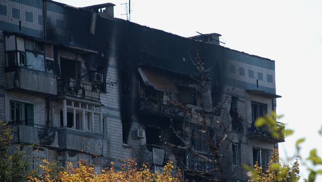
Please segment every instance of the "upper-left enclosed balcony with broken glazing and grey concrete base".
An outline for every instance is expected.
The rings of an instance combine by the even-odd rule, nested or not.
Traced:
[[[5,89],[57,94],[53,45],[16,33],[5,35]]]

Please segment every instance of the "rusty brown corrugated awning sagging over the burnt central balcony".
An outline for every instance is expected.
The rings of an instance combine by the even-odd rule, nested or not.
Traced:
[[[138,71],[145,85],[152,86],[157,91],[179,93],[175,84],[167,76],[142,68],[138,68]]]

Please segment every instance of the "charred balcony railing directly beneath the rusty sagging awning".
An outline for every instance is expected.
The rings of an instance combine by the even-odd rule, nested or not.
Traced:
[[[167,100],[150,97],[141,99],[140,111],[145,114],[156,115],[171,119],[183,120],[185,113],[178,106],[168,103]]]

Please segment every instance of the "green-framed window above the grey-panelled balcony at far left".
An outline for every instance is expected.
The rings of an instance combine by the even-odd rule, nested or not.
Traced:
[[[33,104],[10,101],[10,119],[20,124],[34,125],[34,106]]]

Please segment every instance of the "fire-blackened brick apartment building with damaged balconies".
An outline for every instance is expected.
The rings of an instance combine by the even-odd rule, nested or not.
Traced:
[[[172,123],[195,151],[214,159],[202,126],[174,103],[189,112],[205,107],[215,140],[222,128],[211,123],[226,124],[231,142],[218,150],[225,175],[236,174],[230,181],[247,181],[242,164],[265,168],[284,141],[254,126],[280,97],[274,61],[221,46],[219,34],[184,38],[114,18],[113,6],[0,0],[0,120],[10,122],[16,149],[31,152],[30,169],[46,158],[61,166],[85,160],[99,172],[130,156],[154,171],[171,159],[220,179],[213,163],[164,144],[183,146]],[[207,72],[203,103],[192,79],[200,73],[196,57]]]

